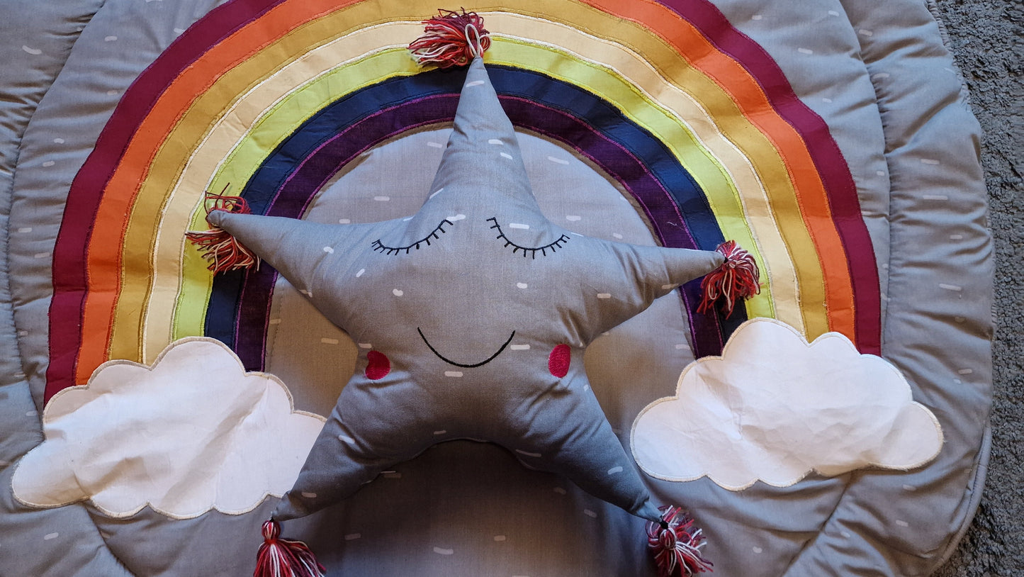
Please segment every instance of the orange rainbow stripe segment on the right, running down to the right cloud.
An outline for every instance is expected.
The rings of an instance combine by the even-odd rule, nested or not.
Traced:
[[[803,138],[790,123],[775,114],[757,80],[739,63],[719,51],[688,20],[660,4],[650,0],[582,1],[656,33],[691,66],[702,71],[729,93],[743,116],[775,145],[796,187],[804,224],[818,250],[818,261],[824,275],[823,304],[828,312],[829,329],[855,339],[853,282],[846,250],[831,220],[824,187]],[[784,228],[785,222],[779,221],[779,226]],[[802,306],[815,304],[805,302]],[[815,336],[808,335],[809,338]]]

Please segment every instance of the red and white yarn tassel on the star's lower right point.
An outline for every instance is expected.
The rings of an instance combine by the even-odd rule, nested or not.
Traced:
[[[654,553],[658,577],[712,571],[713,564],[700,555],[705,537],[700,529],[693,527],[693,519],[676,506],[665,505],[658,510],[662,521],[647,522],[647,547]]]

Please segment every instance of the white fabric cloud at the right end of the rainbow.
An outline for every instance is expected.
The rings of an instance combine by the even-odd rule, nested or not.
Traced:
[[[786,487],[812,470],[911,469],[938,455],[942,429],[881,357],[839,333],[808,344],[783,323],[753,319],[722,357],[683,370],[676,397],[640,412],[632,447],[652,477],[707,476],[738,491],[759,480]]]

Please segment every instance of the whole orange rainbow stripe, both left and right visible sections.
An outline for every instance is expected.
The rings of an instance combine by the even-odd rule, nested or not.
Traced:
[[[91,368],[106,360],[114,308],[121,290],[120,275],[148,274],[147,271],[121,271],[122,243],[136,195],[147,175],[150,164],[181,115],[193,106],[198,94],[209,89],[219,75],[241,64],[253,52],[265,48],[304,23],[357,1],[291,0],[282,3],[212,47],[161,95],[121,159],[104,190],[95,218],[87,270],[118,274],[90,278],[91,288],[85,302],[82,327],[84,340],[78,363],[77,382],[85,382]],[[829,313],[830,327],[853,338],[853,292],[846,266],[846,254],[830,218],[824,189],[814,170],[813,161],[804,150],[800,134],[774,113],[760,85],[738,63],[719,52],[689,22],[675,12],[645,1],[630,2],[628,5],[617,5],[614,0],[584,1],[604,12],[635,20],[656,32],[679,54],[686,57],[691,66],[707,74],[730,94],[743,116],[776,146],[797,187],[797,202],[806,230],[818,250],[818,260],[824,273],[826,296],[823,304]],[[783,226],[785,224],[780,223],[780,228]],[[802,306],[816,304],[804,302]],[[137,317],[138,313],[135,315]],[[131,322],[137,323],[136,317],[132,317]]]

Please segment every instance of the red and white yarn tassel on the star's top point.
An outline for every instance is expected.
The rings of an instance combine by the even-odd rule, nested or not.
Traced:
[[[409,45],[420,66],[466,66],[490,47],[490,33],[483,28],[483,18],[465,8],[462,13],[437,10],[436,16],[423,24],[426,32]]]

